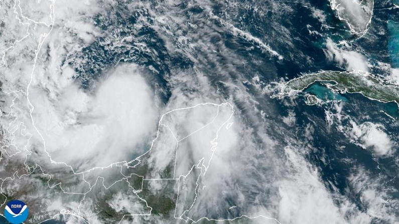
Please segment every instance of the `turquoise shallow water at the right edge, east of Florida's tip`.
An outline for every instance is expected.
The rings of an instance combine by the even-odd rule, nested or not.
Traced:
[[[399,4],[399,0],[397,0]],[[388,21],[389,30],[388,52],[392,62],[392,67],[399,68],[399,23]]]

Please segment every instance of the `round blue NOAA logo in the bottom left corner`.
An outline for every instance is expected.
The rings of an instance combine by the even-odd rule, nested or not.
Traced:
[[[4,209],[4,216],[13,224],[20,224],[28,218],[28,206],[20,200],[12,200]]]

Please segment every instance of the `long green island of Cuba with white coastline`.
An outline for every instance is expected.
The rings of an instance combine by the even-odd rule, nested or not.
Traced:
[[[399,105],[399,89],[395,85],[384,84],[370,74],[359,72],[323,71],[304,75],[289,81],[278,95],[290,95],[291,91],[302,91],[315,82],[324,83],[328,88],[344,93],[360,93],[370,99],[382,102],[394,101]]]

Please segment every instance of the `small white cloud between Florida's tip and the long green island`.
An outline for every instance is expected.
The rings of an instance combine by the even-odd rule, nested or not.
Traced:
[[[327,39],[324,54],[329,61],[335,61],[339,66],[343,66],[347,70],[369,71],[367,60],[362,54],[355,51],[342,50],[331,39]]]

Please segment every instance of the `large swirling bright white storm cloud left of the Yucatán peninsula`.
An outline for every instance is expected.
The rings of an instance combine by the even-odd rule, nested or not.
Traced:
[[[156,130],[157,111],[135,66],[117,67],[93,92],[69,79],[59,80],[63,89],[52,99],[41,88],[32,90],[33,117],[54,161],[88,169],[143,151],[141,144]]]

